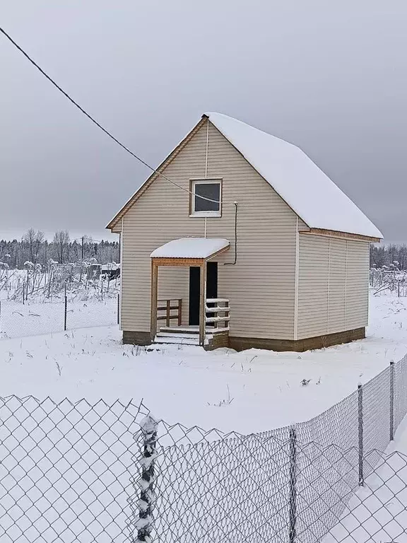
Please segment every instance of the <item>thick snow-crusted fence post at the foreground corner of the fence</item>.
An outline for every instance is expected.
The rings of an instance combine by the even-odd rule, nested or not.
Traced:
[[[140,426],[141,435],[143,436],[143,452],[141,455],[141,494],[138,501],[136,542],[151,543],[154,505],[154,463],[157,457],[158,421],[152,415],[148,415],[141,421]]]

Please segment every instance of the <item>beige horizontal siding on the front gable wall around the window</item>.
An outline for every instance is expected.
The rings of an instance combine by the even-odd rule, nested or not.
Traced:
[[[204,177],[206,125],[165,169],[185,189],[190,177]],[[230,298],[230,334],[293,339],[297,217],[236,149],[209,124],[208,177],[223,178],[222,217],[208,218],[209,238],[228,238],[218,258],[218,296]],[[235,206],[238,202],[237,264]],[[204,218],[188,216],[189,194],[158,177],[124,215],[122,329],[150,329],[150,254],[175,238],[204,236]],[[306,228],[299,221],[300,228]],[[160,268],[160,298],[183,299],[188,322],[188,269]]]

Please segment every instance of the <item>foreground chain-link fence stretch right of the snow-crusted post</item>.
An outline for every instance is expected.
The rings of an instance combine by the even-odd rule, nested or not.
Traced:
[[[314,419],[251,436],[161,423],[152,540],[322,542],[406,415],[406,375],[403,358]]]

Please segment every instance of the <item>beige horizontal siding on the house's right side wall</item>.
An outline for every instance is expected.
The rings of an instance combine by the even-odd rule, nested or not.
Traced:
[[[365,327],[369,243],[300,234],[298,339]]]

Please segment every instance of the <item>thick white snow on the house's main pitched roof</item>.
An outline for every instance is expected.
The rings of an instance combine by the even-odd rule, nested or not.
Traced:
[[[221,113],[205,114],[309,228],[383,238],[299,147]]]

